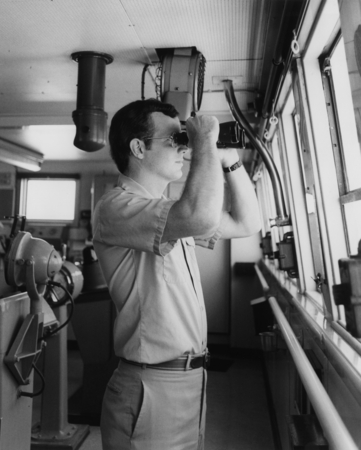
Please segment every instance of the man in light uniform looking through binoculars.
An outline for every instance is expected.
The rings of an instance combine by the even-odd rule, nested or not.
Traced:
[[[219,150],[216,118],[186,122],[190,171],[178,201],[167,185],[182,176],[188,148],[173,106],[145,100],[119,110],[109,142],[118,186],[94,214],[94,247],[117,308],[120,364],[105,393],[103,450],[203,448],[207,325],[194,239],[260,229],[253,186],[235,149]],[[222,171],[223,167],[223,171]],[[222,212],[224,177],[231,212]]]

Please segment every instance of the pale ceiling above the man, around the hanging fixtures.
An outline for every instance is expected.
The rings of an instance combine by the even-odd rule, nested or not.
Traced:
[[[291,0],[292,1],[292,0]],[[206,58],[201,113],[231,120],[221,80],[240,108],[266,90],[286,0],[1,0],[0,137],[46,160],[104,160],[73,145],[78,51],[108,53],[108,123],[125,104],[155,97],[156,49],[195,46]],[[1,152],[1,146],[0,146]]]

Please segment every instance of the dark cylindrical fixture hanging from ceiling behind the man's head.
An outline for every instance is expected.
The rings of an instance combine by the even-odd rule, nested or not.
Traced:
[[[79,63],[78,94],[73,121],[75,147],[95,152],[107,142],[108,114],[104,111],[105,66],[113,62],[106,53],[77,52],[71,55]]]

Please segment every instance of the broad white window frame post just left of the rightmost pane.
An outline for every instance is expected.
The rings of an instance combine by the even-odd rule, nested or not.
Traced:
[[[307,94],[309,129],[314,169],[317,177],[317,205],[320,211],[320,233],[324,249],[324,264],[328,280],[330,318],[343,322],[332,286],[340,283],[338,261],[347,255],[345,228],[342,219],[336,167],[325,102],[319,58],[340,27],[339,5],[336,0],[323,5],[319,20],[312,30],[307,48],[302,54],[304,88]],[[317,124],[317,126],[316,126]],[[342,308],[341,308],[342,309]]]

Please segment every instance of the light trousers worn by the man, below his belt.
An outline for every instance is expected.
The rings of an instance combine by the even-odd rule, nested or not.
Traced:
[[[120,362],[103,400],[103,450],[203,450],[207,373]]]

